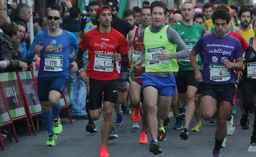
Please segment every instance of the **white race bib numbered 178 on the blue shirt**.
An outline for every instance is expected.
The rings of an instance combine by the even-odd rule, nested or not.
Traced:
[[[44,71],[62,71],[62,55],[44,55]]]

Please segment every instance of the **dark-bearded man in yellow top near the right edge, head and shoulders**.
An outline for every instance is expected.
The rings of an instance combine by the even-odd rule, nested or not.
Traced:
[[[240,9],[238,13],[238,18],[241,21],[241,34],[245,39],[254,37],[254,30],[251,28],[251,17],[252,11],[251,9],[244,7]]]

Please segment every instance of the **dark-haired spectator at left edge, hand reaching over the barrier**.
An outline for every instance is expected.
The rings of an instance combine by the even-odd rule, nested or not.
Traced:
[[[20,70],[21,68],[27,68],[27,63],[21,62],[20,60],[14,60],[13,54],[14,51],[14,41],[17,38],[18,25],[14,22],[7,22],[2,26],[5,34],[2,39],[2,58],[1,60],[9,60],[9,71]],[[7,70],[6,70],[7,71]]]

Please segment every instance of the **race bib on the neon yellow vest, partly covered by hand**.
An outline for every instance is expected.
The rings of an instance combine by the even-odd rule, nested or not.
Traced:
[[[148,49],[149,65],[160,65],[168,62],[168,60],[160,60],[160,58],[158,58],[158,53],[160,53],[160,50],[165,51],[165,46]]]

